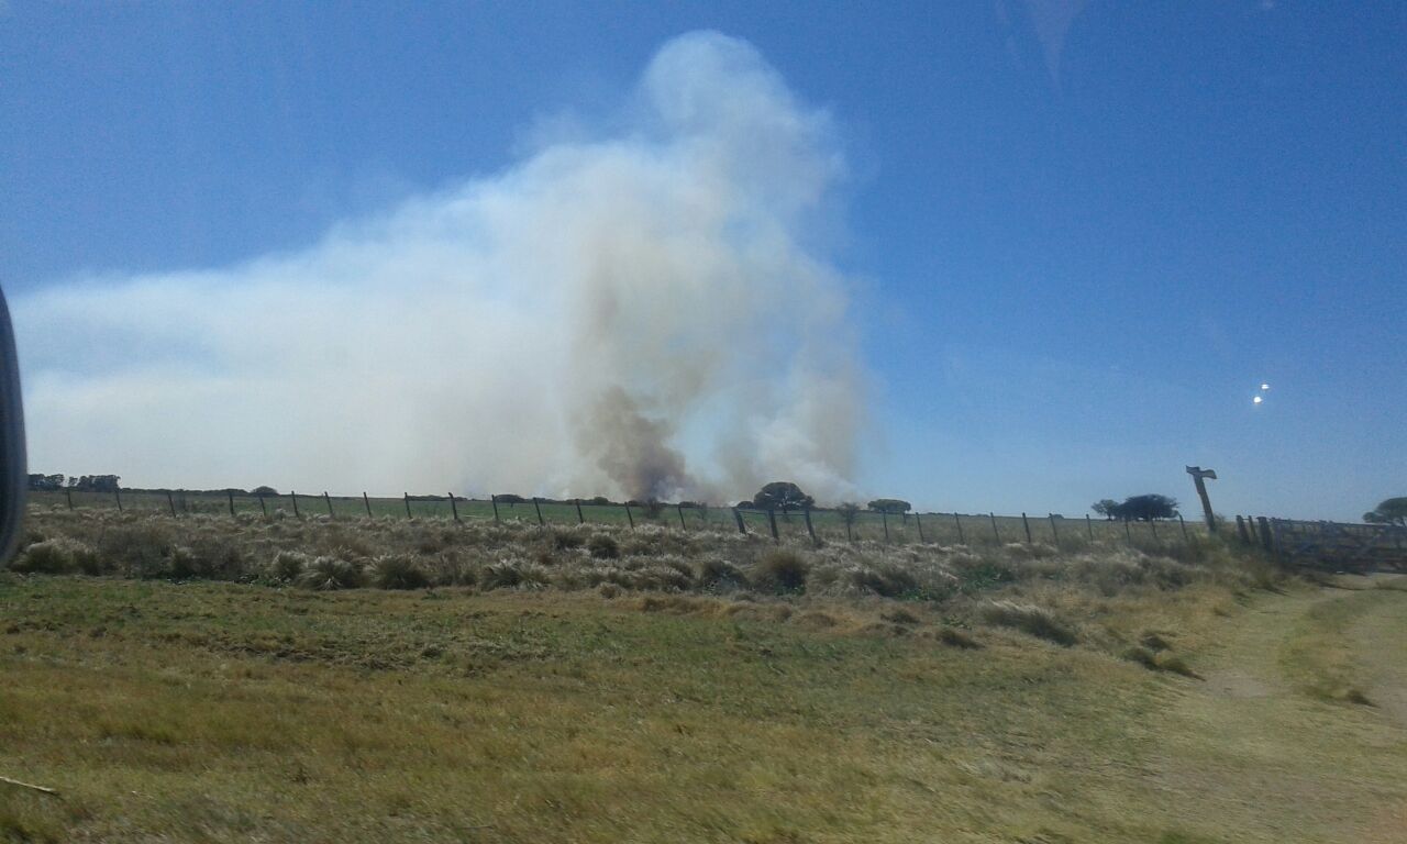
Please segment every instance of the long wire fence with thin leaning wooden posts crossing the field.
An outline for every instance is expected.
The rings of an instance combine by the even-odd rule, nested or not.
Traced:
[[[1078,549],[1090,543],[1124,543],[1134,547],[1165,549],[1188,544],[1207,535],[1206,523],[1175,519],[1121,522],[1090,516],[1065,518],[877,511],[765,511],[709,506],[704,504],[619,504],[602,499],[547,499],[518,495],[464,498],[459,495],[411,495],[398,498],[287,492],[191,492],[166,490],[114,490],[94,492],[65,488],[32,491],[31,505],[51,509],[108,509],[187,515],[227,515],[262,519],[442,519],[449,522],[499,522],[547,526],[613,525],[657,526],[685,532],[740,532],[784,540],[884,542],[889,544],[1000,546],[1009,543],[1048,544]],[[1238,516],[1240,519],[1240,516]]]

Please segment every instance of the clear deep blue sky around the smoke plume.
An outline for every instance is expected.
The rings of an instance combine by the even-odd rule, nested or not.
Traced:
[[[870,373],[858,494],[1074,515],[1190,502],[1188,463],[1218,470],[1225,512],[1355,518],[1407,494],[1393,3],[17,1],[6,291],[23,315],[76,277],[295,255],[609,128],[696,30],[756,48],[843,155],[805,238],[846,279]],[[58,366],[25,353],[27,377]],[[35,468],[162,482],[120,437],[104,467],[39,445]]]

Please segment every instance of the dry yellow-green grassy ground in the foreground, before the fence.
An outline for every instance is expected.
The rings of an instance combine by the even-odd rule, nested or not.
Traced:
[[[257,547],[250,565],[279,542],[370,542],[346,525],[229,522],[41,513],[31,539],[121,554],[132,530],[155,547],[158,529],[225,525]],[[1407,829],[1401,580],[1327,588],[1214,546],[1176,560],[860,543],[782,549],[803,582],[768,589],[771,543],[646,532],[656,544],[623,553],[622,571],[726,556],[749,585],[577,588],[563,573],[582,551],[550,530],[363,529],[387,549],[453,530],[466,560],[497,540],[490,557],[552,549],[533,563],[549,577],[317,591],[115,563],[0,573],[0,775],[61,791],[0,785],[0,840],[1186,844]],[[957,588],[864,585],[898,564]]]

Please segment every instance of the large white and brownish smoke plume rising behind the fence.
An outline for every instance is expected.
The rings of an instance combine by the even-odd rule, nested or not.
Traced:
[[[813,246],[843,174],[827,115],[709,32],[664,45],[622,113],[301,252],[20,298],[32,466],[310,492],[850,492],[862,377],[844,279]]]

